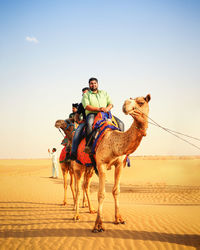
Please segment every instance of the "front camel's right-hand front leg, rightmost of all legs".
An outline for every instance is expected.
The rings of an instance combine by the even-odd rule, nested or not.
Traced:
[[[120,194],[120,177],[123,165],[118,165],[115,167],[115,183],[112,190],[112,194],[115,200],[115,221],[114,224],[125,224],[125,221],[122,219],[122,216],[119,213],[119,200],[118,196]]]

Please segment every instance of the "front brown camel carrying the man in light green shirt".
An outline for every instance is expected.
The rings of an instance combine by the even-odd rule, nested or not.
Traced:
[[[148,127],[149,105],[151,96],[138,97],[135,99],[128,99],[124,102],[123,112],[129,114],[134,118],[133,124],[126,132],[120,132],[117,130],[106,131],[102,141],[100,142],[96,150],[96,165],[99,172],[99,191],[98,191],[98,211],[97,218],[93,232],[104,231],[102,222],[102,208],[105,198],[105,179],[106,170],[111,169],[111,166],[115,166],[115,182],[112,190],[112,194],[115,201],[115,224],[124,224],[122,216],[119,212],[118,195],[120,193],[120,177],[123,167],[126,164],[126,156],[133,153],[139,146],[143,136],[146,136],[146,129]],[[78,202],[79,202],[79,189],[80,178],[83,175],[84,166],[75,163],[73,166],[77,193],[76,193],[76,213],[74,219],[79,219]],[[87,196],[89,193],[87,194]],[[90,200],[90,199],[88,199]],[[88,201],[89,202],[89,201]],[[88,204],[90,206],[90,204]]]

